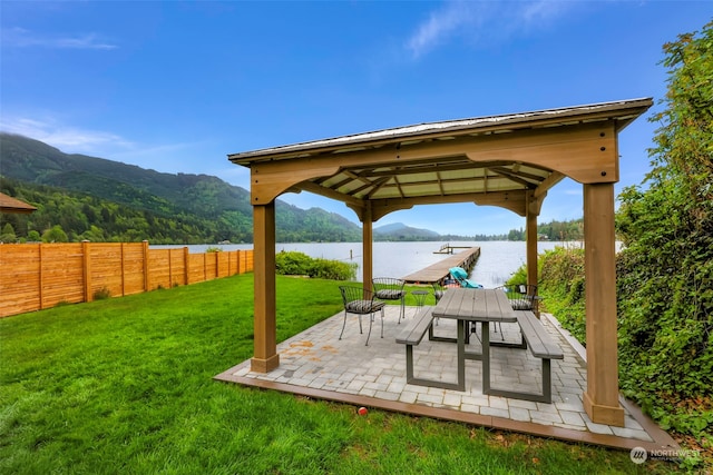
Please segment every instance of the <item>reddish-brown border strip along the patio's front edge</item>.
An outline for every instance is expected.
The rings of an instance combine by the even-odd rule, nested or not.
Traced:
[[[369,396],[336,393],[324,389],[295,386],[286,383],[268,382],[244,376],[236,376],[235,373],[242,367],[244,367],[244,365],[238,365],[231,369],[227,369],[226,372],[223,372],[219,375],[215,376],[214,379],[225,383],[236,383],[243,386],[254,387],[258,389],[291,393],[297,396],[312,397],[315,399],[350,404],[354,406],[365,406],[412,416],[431,417],[442,420],[466,423],[492,429],[517,432],[521,434],[529,434],[538,437],[559,439],[564,442],[599,445],[623,451],[631,451],[634,447],[641,447],[648,452],[678,448],[678,445],[675,443],[675,441],[673,441],[673,438],[671,438],[668,434],[663,433],[663,431],[658,426],[653,424],[653,427],[642,424],[644,431],[646,431],[646,433],[654,439],[654,442],[646,442],[618,437],[616,435],[593,434],[584,431],[574,431],[528,422],[518,422],[504,417],[492,417],[484,416],[480,414],[463,413],[460,410],[442,407],[429,407],[419,404],[379,399]],[[654,434],[652,434],[649,429],[654,429]],[[662,434],[660,433],[665,434],[666,437],[662,437]]]

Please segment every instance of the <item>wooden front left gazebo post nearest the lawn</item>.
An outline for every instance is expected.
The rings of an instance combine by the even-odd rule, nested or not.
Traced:
[[[251,370],[270,373],[280,366],[275,304],[275,201],[253,206],[254,356]]]

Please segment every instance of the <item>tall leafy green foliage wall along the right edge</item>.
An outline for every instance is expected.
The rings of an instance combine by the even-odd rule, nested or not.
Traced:
[[[622,389],[665,428],[713,434],[713,22],[666,43],[645,190],[621,195]]]

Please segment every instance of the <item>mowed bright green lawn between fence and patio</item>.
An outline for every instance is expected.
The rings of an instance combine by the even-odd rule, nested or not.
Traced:
[[[341,309],[277,277],[283,340]],[[336,338],[336,335],[334,336]],[[253,276],[0,320],[2,474],[670,473],[626,452],[212,379],[253,352]]]

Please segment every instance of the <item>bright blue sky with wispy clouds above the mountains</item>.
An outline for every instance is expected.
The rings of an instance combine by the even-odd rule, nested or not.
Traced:
[[[439,120],[665,93],[662,46],[701,29],[709,1],[0,2],[0,129],[157,171],[246,189],[228,154]],[[641,184],[656,125],[619,136]],[[0,164],[1,167],[1,164]],[[356,221],[311,194],[281,199]],[[582,186],[540,221],[582,217]],[[500,208],[422,206],[441,234],[524,226]]]

